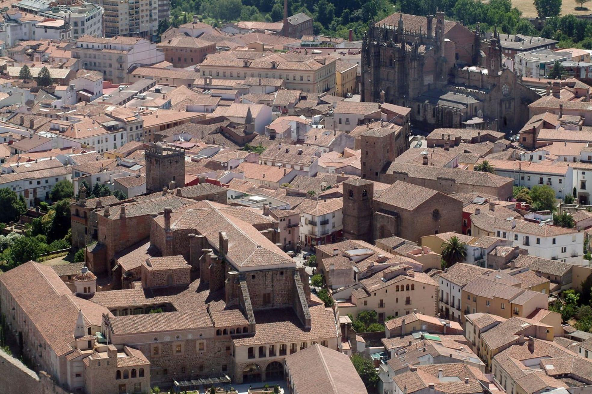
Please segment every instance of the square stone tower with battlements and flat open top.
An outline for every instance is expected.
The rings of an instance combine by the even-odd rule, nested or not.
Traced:
[[[152,144],[146,149],[146,192],[160,192],[175,182],[185,186],[185,151],[165,147],[162,143]]]

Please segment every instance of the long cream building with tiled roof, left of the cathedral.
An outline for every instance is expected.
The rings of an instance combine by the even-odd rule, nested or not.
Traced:
[[[221,79],[284,79],[287,89],[334,94],[335,60],[298,53],[226,51],[208,55],[200,63],[201,76]]]

